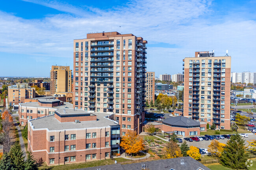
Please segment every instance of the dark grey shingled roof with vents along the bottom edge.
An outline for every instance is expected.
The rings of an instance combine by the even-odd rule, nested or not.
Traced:
[[[184,160],[184,164],[181,164],[182,159]],[[82,168],[80,170],[141,170],[141,165],[145,165],[145,169],[148,170],[197,170],[198,168],[201,168],[202,170],[210,170],[192,157],[178,157],[173,159],[162,159],[157,161],[148,161],[125,165],[113,164],[95,166],[90,168]]]

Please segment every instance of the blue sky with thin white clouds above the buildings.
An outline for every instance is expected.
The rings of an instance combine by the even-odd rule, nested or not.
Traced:
[[[147,70],[182,73],[195,51],[228,49],[234,72],[256,72],[255,0],[6,0],[0,2],[0,76],[49,77],[73,66],[73,39],[132,33],[148,41]],[[120,27],[121,26],[121,27]]]

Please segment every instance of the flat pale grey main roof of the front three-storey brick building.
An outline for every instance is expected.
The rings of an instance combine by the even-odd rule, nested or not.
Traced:
[[[67,129],[83,129],[83,128],[100,128],[106,126],[118,125],[118,122],[108,119],[111,114],[108,113],[93,113],[97,116],[96,121],[75,122],[59,122],[54,115],[44,116],[29,120],[34,129],[48,130],[67,130]]]

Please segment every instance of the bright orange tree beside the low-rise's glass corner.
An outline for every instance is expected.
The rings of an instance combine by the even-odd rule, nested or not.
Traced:
[[[144,149],[144,140],[142,137],[138,137],[137,132],[133,130],[128,130],[125,136],[122,137],[120,146],[124,148],[126,154],[135,155],[139,151]]]

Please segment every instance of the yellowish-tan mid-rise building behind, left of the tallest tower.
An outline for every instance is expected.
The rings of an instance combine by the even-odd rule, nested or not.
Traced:
[[[72,70],[69,66],[52,66],[50,71],[51,84],[50,91],[51,94],[56,92],[71,92],[72,91]]]

